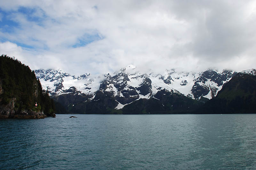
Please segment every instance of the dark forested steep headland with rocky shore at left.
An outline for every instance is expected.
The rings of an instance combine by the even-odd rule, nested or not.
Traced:
[[[43,91],[34,71],[17,59],[1,55],[0,118],[44,118],[54,115],[53,100]]]

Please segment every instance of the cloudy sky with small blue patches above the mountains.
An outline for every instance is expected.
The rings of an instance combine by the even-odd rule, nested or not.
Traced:
[[[32,70],[256,68],[254,0],[2,0],[0,53]]]

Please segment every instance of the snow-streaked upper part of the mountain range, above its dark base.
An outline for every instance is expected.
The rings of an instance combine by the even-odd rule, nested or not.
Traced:
[[[63,95],[80,95],[79,102],[99,101],[107,98],[112,101],[111,107],[121,109],[140,99],[156,99],[160,91],[170,94],[185,95],[192,99],[209,100],[216,96],[222,85],[228,82],[236,72],[223,70],[206,70],[201,73],[176,72],[166,70],[164,74],[152,71],[140,72],[136,66],[128,65],[114,73],[105,74],[103,78],[84,74],[71,76],[60,69],[35,70],[43,89],[60,100]],[[163,93],[164,95],[164,93]],[[83,96],[83,98],[81,98]],[[68,98],[68,97],[66,97]],[[62,99],[63,100],[63,99]],[[84,101],[83,101],[84,100]],[[74,100],[62,101],[66,105],[76,105]],[[104,101],[106,105],[109,101]]]

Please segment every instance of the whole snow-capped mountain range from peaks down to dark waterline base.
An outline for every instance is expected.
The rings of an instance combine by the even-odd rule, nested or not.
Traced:
[[[60,69],[35,70],[60,113],[189,113],[214,98],[237,73],[232,70],[157,74],[128,65],[114,73],[71,76]],[[58,110],[58,109],[57,109]]]

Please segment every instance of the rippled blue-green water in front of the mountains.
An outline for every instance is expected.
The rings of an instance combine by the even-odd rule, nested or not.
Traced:
[[[256,169],[256,115],[69,116],[0,120],[0,169]]]

